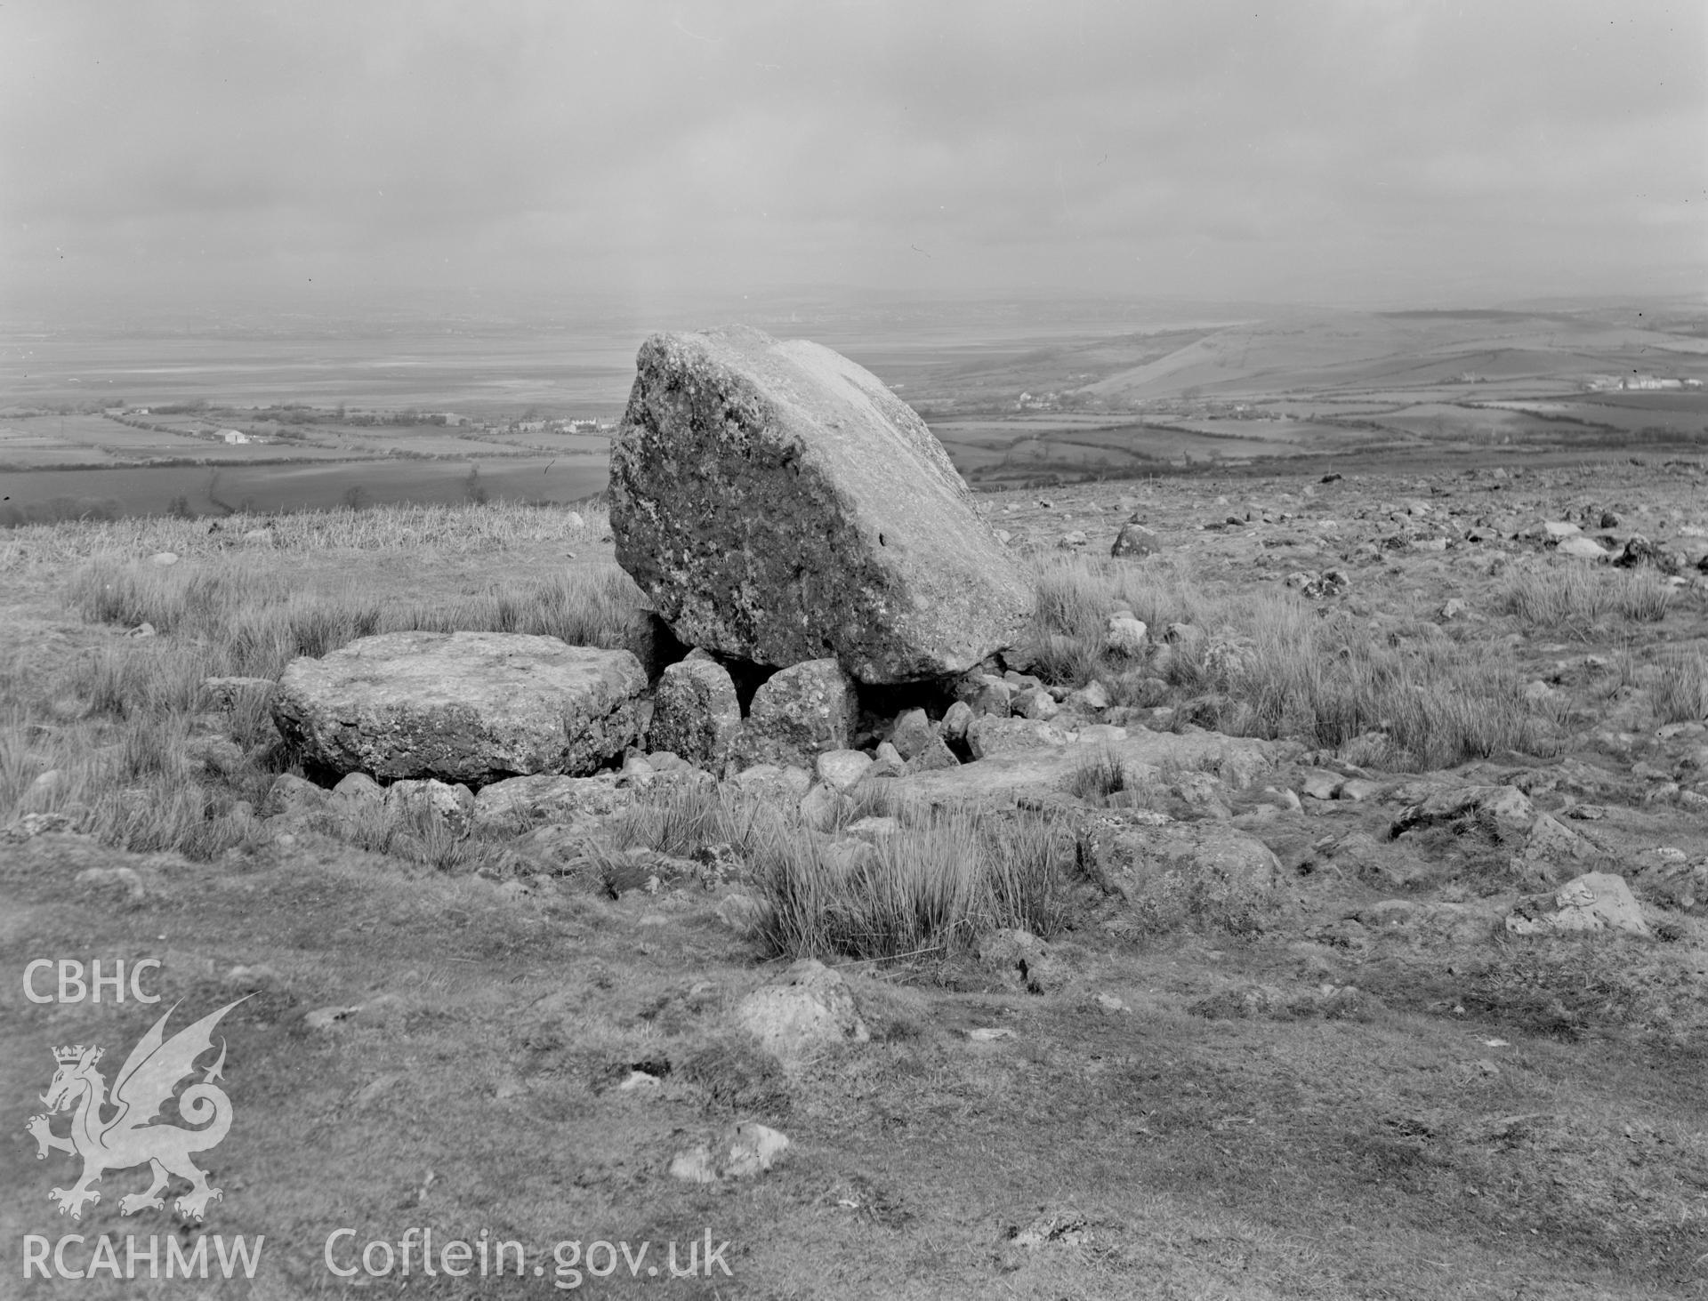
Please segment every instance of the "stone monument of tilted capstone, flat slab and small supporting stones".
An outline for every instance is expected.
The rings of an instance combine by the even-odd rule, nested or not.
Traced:
[[[912,408],[828,348],[746,326],[654,335],[635,372],[611,534],[688,654],[647,681],[629,650],[552,637],[364,637],[297,659],[273,693],[311,772],[429,784],[393,802],[473,801],[454,814],[471,826],[564,813],[584,802],[565,779],[620,763],[801,797],[1032,750],[1027,780],[1066,780],[1064,748],[1107,702],[1023,673],[1028,584]],[[1144,637],[1110,623],[1134,654]]]

